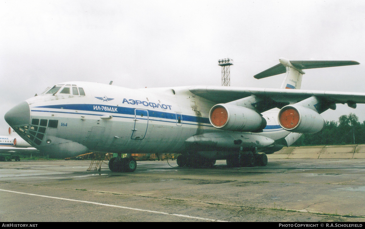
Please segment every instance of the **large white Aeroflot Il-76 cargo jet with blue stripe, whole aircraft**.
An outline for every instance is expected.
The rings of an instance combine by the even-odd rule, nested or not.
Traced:
[[[226,60],[227,61],[227,60]],[[228,60],[231,61],[231,60]],[[32,146],[55,157],[118,153],[112,171],[134,171],[127,153],[181,153],[181,167],[266,165],[266,154],[324,126],[321,113],[337,103],[356,108],[365,93],[300,89],[303,69],[356,61],[290,61],[254,77],[285,73],[281,88],[189,86],[129,89],[65,82],[19,103],[5,120]],[[284,142],[284,144],[282,143]]]

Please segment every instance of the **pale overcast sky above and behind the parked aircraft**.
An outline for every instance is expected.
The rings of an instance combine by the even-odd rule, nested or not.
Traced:
[[[279,88],[284,74],[253,76],[290,60],[355,60],[305,70],[302,89],[365,92],[365,1],[8,1],[0,3],[0,135],[4,114],[64,81],[129,88],[221,85]],[[326,120],[365,105],[337,105]]]

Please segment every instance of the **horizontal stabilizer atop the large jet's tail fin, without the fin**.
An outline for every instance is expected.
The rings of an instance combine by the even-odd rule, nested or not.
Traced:
[[[337,66],[347,66],[347,65],[358,65],[359,62],[356,61],[322,61],[322,60],[287,60],[284,58],[280,59],[280,64],[277,64],[263,72],[258,73],[254,77],[256,79],[262,79],[269,76],[279,75],[286,72],[286,66],[293,67],[296,69],[311,69],[311,68],[329,68]]]

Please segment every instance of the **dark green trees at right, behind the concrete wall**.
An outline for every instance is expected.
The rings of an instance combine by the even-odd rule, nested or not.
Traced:
[[[350,113],[338,121],[326,121],[323,129],[315,134],[303,134],[293,146],[365,144],[365,121]]]

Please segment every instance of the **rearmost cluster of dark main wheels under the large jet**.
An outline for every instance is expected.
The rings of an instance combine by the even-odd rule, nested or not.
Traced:
[[[265,153],[239,153],[232,154],[226,159],[228,167],[254,167],[268,164],[268,156]]]

